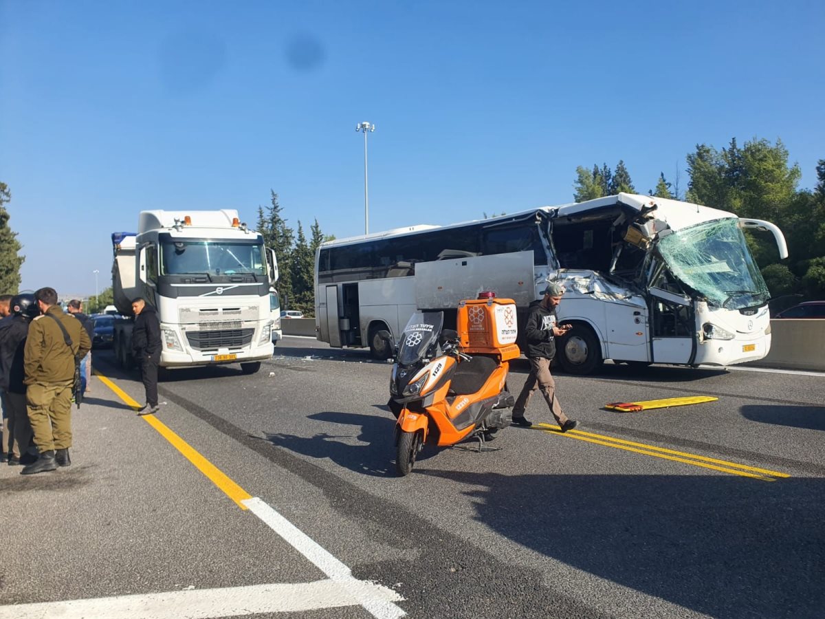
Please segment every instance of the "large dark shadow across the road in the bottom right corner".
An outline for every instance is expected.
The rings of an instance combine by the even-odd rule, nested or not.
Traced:
[[[825,480],[413,475],[470,486],[476,519],[522,546],[696,612],[822,617]]]

